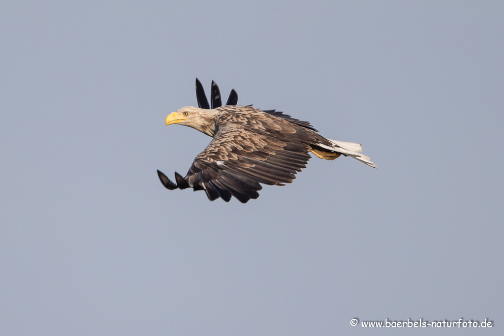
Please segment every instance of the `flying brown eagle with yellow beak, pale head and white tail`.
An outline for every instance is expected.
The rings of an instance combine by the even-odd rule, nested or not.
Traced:
[[[172,182],[157,171],[168,189],[205,190],[210,200],[228,202],[234,196],[241,203],[258,198],[262,184],[285,185],[306,167],[309,153],[325,160],[349,156],[376,168],[361,154],[362,145],[324,138],[307,121],[276,110],[260,110],[252,105],[238,106],[238,95],[231,91],[222,106],[220,91],[212,81],[211,106],[200,81],[196,79],[198,106],[185,106],[169,114],[166,126],[179,124],[212,137],[182,177],[175,172]]]

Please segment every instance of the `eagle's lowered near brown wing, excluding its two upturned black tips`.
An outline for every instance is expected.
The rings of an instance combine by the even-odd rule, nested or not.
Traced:
[[[184,177],[188,186],[205,190],[211,200],[235,196],[246,203],[259,197],[259,183],[291,183],[306,167],[313,139],[288,122],[270,120],[256,116],[246,126],[221,126]]]

